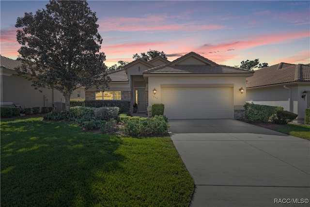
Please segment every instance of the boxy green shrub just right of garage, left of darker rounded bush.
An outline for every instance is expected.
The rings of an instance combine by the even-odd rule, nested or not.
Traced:
[[[244,108],[245,119],[250,123],[272,122],[276,118],[276,112],[279,110],[283,111],[283,107],[279,106],[266,106],[250,103],[246,103]]]

